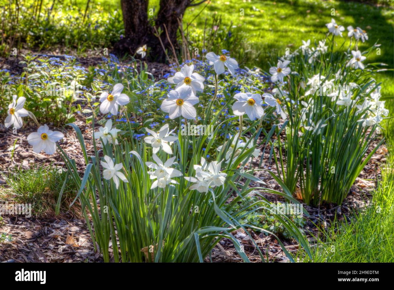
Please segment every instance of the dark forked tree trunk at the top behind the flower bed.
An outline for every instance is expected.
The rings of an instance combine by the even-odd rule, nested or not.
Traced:
[[[147,45],[150,49],[149,60],[165,62],[165,53],[160,40],[148,21],[148,2],[149,0],[121,0],[125,37],[115,44],[113,52],[116,54],[134,54],[138,47]],[[158,31],[162,32],[160,39],[168,52],[172,51],[171,43],[175,49],[178,48],[178,19],[183,17],[187,7],[196,6],[203,2],[160,0],[160,9],[154,25]],[[167,28],[168,37],[165,28]]]

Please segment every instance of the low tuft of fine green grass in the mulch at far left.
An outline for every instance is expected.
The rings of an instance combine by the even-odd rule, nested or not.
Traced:
[[[54,217],[56,201],[65,181],[66,173],[56,167],[32,167],[17,169],[6,177],[8,189],[0,192],[2,200],[12,199],[15,204],[32,204],[32,215],[35,217]],[[60,212],[70,210],[71,214],[78,215],[80,206],[69,204],[78,189],[69,180],[63,191]]]

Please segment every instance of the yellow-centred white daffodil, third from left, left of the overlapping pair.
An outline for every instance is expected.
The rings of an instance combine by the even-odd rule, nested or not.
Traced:
[[[115,84],[111,94],[103,92],[100,95],[100,112],[107,114],[110,112],[113,115],[118,114],[119,105],[124,106],[130,102],[130,98],[126,94],[121,94],[123,91],[123,84]]]

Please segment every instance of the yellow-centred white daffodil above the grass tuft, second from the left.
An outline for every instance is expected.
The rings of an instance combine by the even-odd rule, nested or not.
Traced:
[[[27,137],[27,142],[33,145],[33,151],[35,153],[40,153],[44,150],[46,154],[52,155],[56,151],[56,142],[63,137],[63,133],[49,130],[45,124],[40,126],[37,132],[30,133]]]

